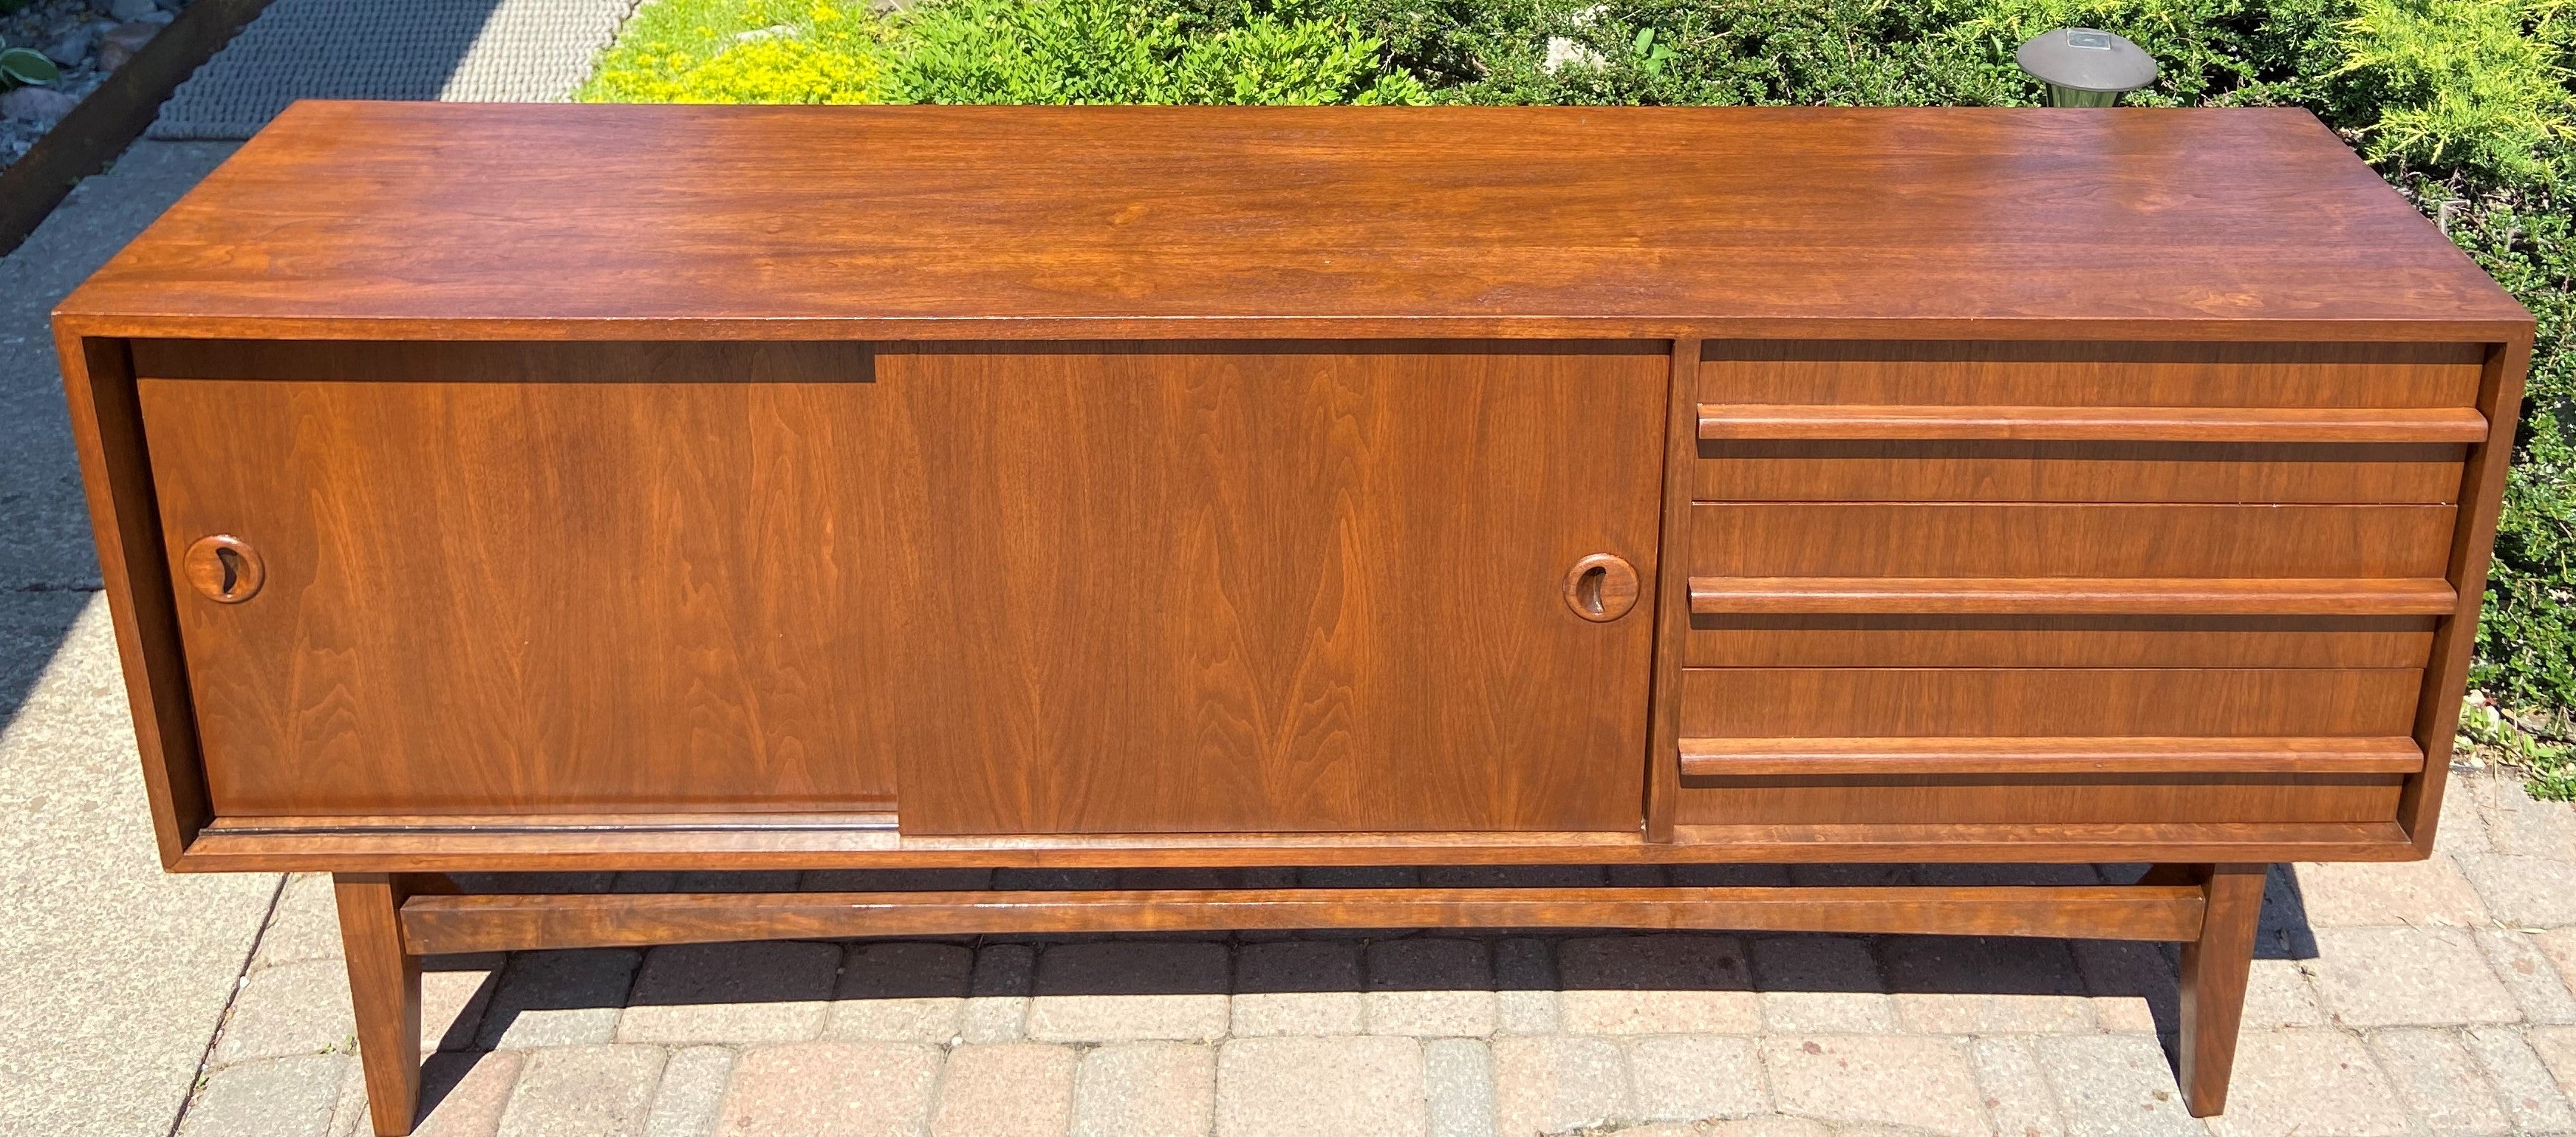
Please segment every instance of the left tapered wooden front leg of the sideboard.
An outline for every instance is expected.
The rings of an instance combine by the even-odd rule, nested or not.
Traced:
[[[420,957],[402,951],[402,877],[337,874],[340,944],[358,1008],[358,1062],[379,1137],[412,1132],[420,1109]]]

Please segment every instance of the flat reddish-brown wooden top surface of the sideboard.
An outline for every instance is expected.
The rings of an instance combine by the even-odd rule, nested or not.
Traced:
[[[201,338],[2530,335],[2285,108],[299,103],[59,317]]]

